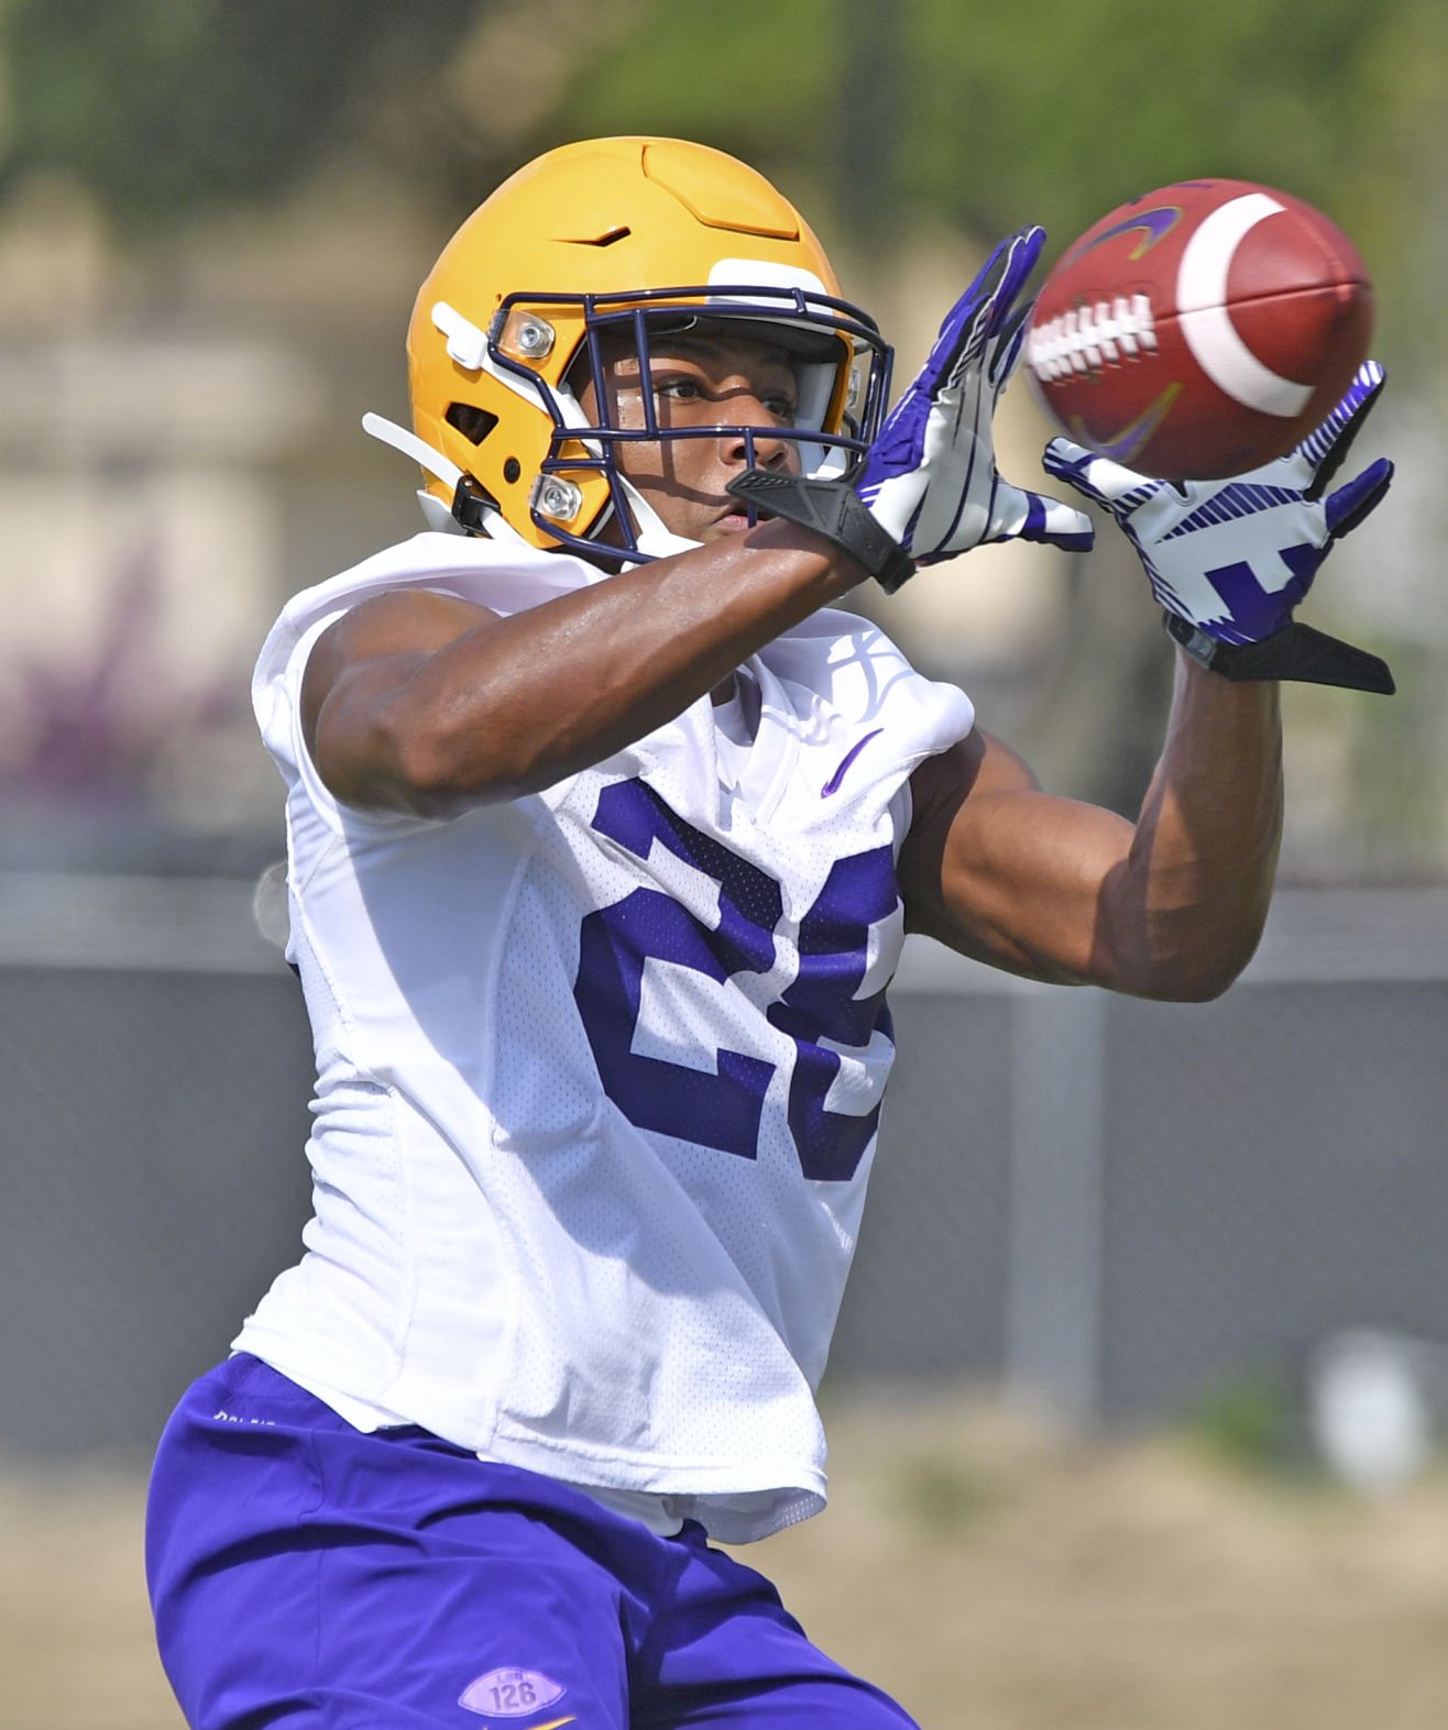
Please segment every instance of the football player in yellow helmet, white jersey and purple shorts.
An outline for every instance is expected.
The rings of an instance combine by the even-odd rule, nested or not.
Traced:
[[[1138,820],[1043,792],[837,609],[984,541],[1090,543],[993,458],[1040,244],[1002,244],[889,413],[799,213],[695,144],[543,156],[422,285],[413,429],[368,424],[429,528],[291,600],[256,670],[315,1216],[157,1453],[197,1730],[910,1721],[716,1547],[825,1502],[903,934],[1223,991],[1282,818],[1277,683],[1227,650],[1292,630],[1387,483],[1318,502],[1379,375],[1232,521],[1054,446],[1190,640]],[[1278,541],[1266,625],[1201,600],[1195,566]]]

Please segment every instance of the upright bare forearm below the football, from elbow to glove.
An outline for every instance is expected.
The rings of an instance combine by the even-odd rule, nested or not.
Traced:
[[[1230,683],[1178,656],[1166,746],[1104,901],[1121,986],[1218,996],[1253,958],[1282,839],[1275,683]]]

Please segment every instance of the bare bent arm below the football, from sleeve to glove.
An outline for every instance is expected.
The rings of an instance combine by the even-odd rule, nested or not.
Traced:
[[[1251,958],[1282,832],[1277,685],[1180,657],[1166,747],[1135,823],[1041,792],[972,734],[912,777],[908,924],[1033,979],[1220,995]]]

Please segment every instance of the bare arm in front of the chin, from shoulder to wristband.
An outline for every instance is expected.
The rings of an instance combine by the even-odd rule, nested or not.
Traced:
[[[536,792],[673,720],[863,576],[811,531],[761,522],[512,618],[384,593],[311,650],[306,744],[362,810],[446,817]]]

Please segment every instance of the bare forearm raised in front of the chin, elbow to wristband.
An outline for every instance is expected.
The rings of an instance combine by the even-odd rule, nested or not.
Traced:
[[[673,720],[862,576],[765,522],[469,633],[389,706],[405,799],[436,815],[538,792]]]

